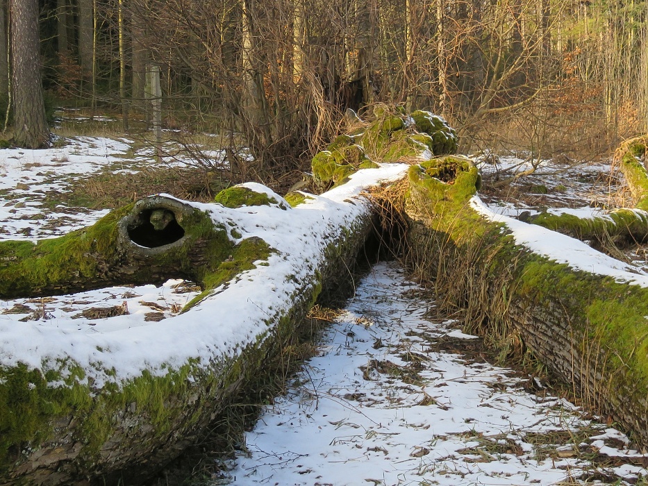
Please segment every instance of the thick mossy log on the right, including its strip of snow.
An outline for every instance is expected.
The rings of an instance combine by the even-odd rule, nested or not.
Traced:
[[[409,262],[467,309],[467,331],[504,356],[524,342],[583,405],[648,446],[648,276],[490,211],[470,160],[422,162],[408,181]]]

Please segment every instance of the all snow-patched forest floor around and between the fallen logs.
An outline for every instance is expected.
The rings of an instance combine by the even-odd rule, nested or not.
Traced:
[[[212,197],[213,180],[190,158],[176,156],[160,168],[152,149],[125,137],[66,142],[0,151],[1,240],[63,235],[148,193]],[[217,151],[212,157],[219,163]],[[501,158],[481,169],[485,176],[501,174],[520,162]],[[556,208],[585,215],[623,205],[623,187],[609,162],[547,162],[506,190],[487,188],[481,196],[514,217]],[[638,272],[648,267],[642,249],[625,254]],[[1,301],[0,319],[56,317],[70,330],[92,333],[171,318],[196,291],[169,281]],[[102,314],[124,301],[128,315]],[[544,378],[490,364],[481,341],[458,328],[397,264],[376,265],[324,330],[288,393],[263,408],[238,452],[217,459],[207,453],[186,483],[648,483],[648,455],[632,451],[613,424],[552,395]]]

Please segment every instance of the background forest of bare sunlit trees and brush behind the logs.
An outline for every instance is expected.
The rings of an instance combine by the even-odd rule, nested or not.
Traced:
[[[0,5],[2,109],[10,103],[11,12]],[[156,66],[163,125],[183,136],[217,133],[241,179],[299,169],[335,135],[347,108],[362,116],[374,103],[442,115],[465,152],[585,158],[648,130],[646,8],[634,0],[39,7],[48,106],[121,111],[126,130],[142,131],[151,117],[146,73]]]

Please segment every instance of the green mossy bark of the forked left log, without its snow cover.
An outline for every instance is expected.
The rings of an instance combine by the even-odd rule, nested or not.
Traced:
[[[263,194],[239,193],[246,206],[251,199],[272,203]],[[272,210],[290,210],[281,204],[278,201]],[[268,260],[275,252],[259,237],[241,240],[235,221],[213,221],[213,215],[193,206],[154,196],[66,237],[38,244],[9,242],[2,246],[3,296],[183,276],[205,290],[185,306],[183,317],[188,317],[210,289],[254,269],[258,260]],[[371,228],[368,210],[345,228],[331,228],[317,259],[321,264],[309,270],[308,278],[295,280],[285,306],[268,308],[263,330],[232,352],[217,351],[220,343],[208,343],[215,349],[208,359],[189,358],[179,366],[151,369],[143,351],[141,374],[132,378],[103,369],[99,357],[91,364],[97,369],[84,369],[65,357],[55,362],[48,358],[41,367],[0,364],[0,484],[141,483],[196,442],[240,387],[263,375],[267,357],[281,349],[318,296],[338,288],[339,279],[347,280],[342,269],[352,267]],[[29,270],[32,265],[40,267]],[[304,262],[301,266],[306,267]],[[19,282],[18,290],[6,279]],[[213,319],[218,326],[218,316]],[[99,374],[115,378],[97,383],[93,376]]]

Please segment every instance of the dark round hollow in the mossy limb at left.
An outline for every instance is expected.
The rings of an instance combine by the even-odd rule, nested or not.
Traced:
[[[146,248],[158,248],[177,242],[185,230],[174,212],[165,208],[151,208],[140,212],[135,226],[128,228],[131,241]]]

